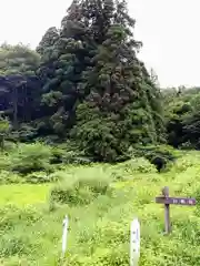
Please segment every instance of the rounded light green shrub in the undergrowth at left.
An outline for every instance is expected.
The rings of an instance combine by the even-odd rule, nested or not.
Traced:
[[[11,155],[11,170],[21,174],[50,171],[51,147],[41,143],[20,144]]]

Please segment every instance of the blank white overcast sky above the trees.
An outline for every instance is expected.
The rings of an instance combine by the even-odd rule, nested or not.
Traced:
[[[0,42],[34,48],[49,27],[60,25],[71,0],[0,0]],[[128,0],[137,20],[140,58],[162,86],[200,85],[200,0]]]

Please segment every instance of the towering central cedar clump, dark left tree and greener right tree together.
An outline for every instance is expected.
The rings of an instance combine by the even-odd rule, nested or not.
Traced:
[[[66,134],[76,124],[70,136],[101,161],[159,142],[163,129],[160,91],[137,58],[133,28],[123,0],[76,0],[38,49],[49,117],[42,126]]]

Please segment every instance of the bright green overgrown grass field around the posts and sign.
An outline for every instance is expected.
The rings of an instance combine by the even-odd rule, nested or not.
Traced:
[[[200,155],[183,154],[158,174],[143,158],[109,165],[66,166],[57,184],[0,186],[1,265],[129,265],[130,222],[141,222],[141,266],[200,265],[200,206],[172,206],[172,234],[163,235],[164,185],[171,195],[200,200]],[[68,252],[61,257],[68,214]]]

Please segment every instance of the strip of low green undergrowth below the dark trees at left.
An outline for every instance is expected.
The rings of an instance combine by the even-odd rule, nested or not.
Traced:
[[[71,149],[72,145],[68,143],[59,146],[42,142],[16,145],[7,143],[6,151],[0,153],[0,184],[54,182],[59,180],[57,171],[64,168],[64,165],[91,163],[84,153]]]

